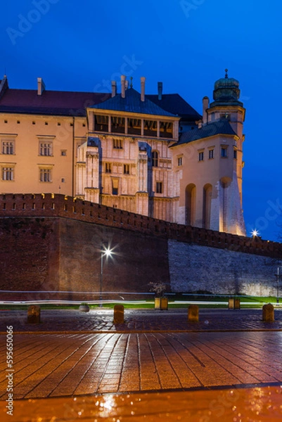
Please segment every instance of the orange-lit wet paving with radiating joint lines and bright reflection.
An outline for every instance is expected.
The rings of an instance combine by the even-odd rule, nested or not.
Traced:
[[[0,399],[6,393],[1,335]],[[13,397],[282,383],[280,331],[16,334]]]

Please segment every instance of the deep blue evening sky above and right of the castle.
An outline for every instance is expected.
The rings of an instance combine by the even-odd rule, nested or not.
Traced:
[[[11,88],[110,91],[120,74],[146,91],[179,93],[202,114],[214,82],[239,80],[246,108],[247,233],[277,240],[281,224],[281,0],[14,0],[1,10],[0,79]]]

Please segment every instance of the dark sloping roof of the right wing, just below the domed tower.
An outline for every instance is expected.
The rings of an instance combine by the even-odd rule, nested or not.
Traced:
[[[198,139],[204,139],[214,135],[235,136],[236,133],[233,131],[228,120],[219,120],[218,122],[205,124],[205,126],[201,127],[201,129],[192,129],[188,132],[184,132],[183,134],[181,134],[179,141],[177,143],[174,143],[172,146],[197,141]]]

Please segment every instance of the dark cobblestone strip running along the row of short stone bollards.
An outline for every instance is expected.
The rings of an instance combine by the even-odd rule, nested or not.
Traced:
[[[27,324],[27,312],[0,311],[0,331],[13,325],[17,332],[89,331],[232,331],[282,330],[282,309],[275,321],[262,322],[262,309],[200,309],[199,322],[188,322],[187,309],[125,309],[124,324],[113,324],[113,309],[42,309],[41,324]]]

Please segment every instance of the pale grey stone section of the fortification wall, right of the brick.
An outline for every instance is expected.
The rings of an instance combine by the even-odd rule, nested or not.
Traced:
[[[174,292],[276,296],[277,262],[271,257],[173,240],[168,241],[168,253]]]

